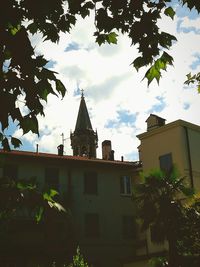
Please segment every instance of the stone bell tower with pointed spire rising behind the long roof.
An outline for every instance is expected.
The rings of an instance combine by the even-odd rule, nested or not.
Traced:
[[[96,158],[98,136],[97,131],[92,129],[83,90],[75,130],[70,133],[70,139],[73,156]]]

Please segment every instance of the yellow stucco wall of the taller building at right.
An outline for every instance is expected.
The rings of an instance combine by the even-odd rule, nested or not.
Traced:
[[[191,184],[189,164],[189,157],[191,157],[194,188],[200,191],[200,128],[198,126],[177,121],[138,137],[141,140],[139,154],[144,173],[159,169],[159,156],[171,153],[179,175],[186,176],[188,183]],[[157,246],[151,242],[150,231],[147,232],[147,243],[150,253],[167,249],[167,243]]]

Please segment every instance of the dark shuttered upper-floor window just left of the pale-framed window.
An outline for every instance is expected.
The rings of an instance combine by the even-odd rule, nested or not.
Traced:
[[[86,172],[84,174],[84,193],[90,195],[97,195],[97,173],[96,172]]]

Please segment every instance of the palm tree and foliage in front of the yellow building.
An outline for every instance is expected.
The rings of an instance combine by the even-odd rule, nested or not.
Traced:
[[[179,260],[200,256],[200,201],[185,177],[152,172],[135,186],[134,199],[141,228],[150,227],[153,242],[168,240]]]

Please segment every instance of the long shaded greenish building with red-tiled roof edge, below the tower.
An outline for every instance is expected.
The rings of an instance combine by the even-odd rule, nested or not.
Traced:
[[[70,210],[73,244],[93,266],[122,266],[134,258],[138,236],[131,187],[141,170],[137,162],[22,151],[1,151],[1,162],[2,177],[34,177],[41,190],[59,192]]]

